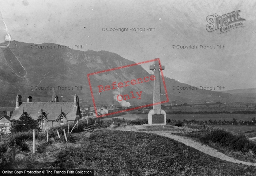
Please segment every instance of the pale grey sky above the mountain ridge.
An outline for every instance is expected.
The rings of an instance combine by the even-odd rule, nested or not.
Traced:
[[[1,0],[0,4],[11,40],[80,45],[78,50],[105,50],[134,62],[160,58],[163,74],[182,83],[225,90],[256,88],[256,0]],[[206,30],[208,15],[238,10],[245,19],[241,27],[223,33]],[[128,31],[110,31],[118,28]],[[150,72],[149,65],[143,67]]]

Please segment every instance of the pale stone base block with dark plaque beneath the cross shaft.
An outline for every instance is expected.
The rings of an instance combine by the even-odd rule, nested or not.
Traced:
[[[148,113],[149,125],[166,125],[166,113],[162,109],[151,109]]]

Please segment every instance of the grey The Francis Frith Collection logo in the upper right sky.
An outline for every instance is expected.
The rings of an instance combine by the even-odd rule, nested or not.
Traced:
[[[231,29],[244,27],[244,18],[239,15],[240,10],[226,13],[224,15],[208,15],[206,21],[209,23],[206,26],[208,32],[213,32],[216,30],[221,33],[230,31]]]

